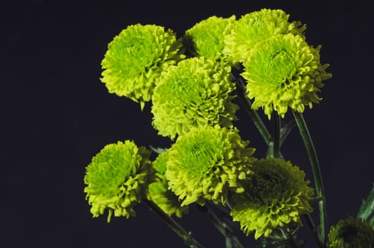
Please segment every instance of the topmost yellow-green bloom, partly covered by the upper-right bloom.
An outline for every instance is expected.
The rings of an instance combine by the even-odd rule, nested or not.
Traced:
[[[304,37],[306,26],[299,21],[288,22],[289,16],[280,9],[247,13],[234,23],[232,32],[225,36],[224,53],[234,62],[244,62],[257,43],[273,35],[293,33]]]

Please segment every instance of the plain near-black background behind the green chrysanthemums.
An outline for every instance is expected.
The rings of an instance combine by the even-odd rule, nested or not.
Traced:
[[[305,119],[322,166],[329,225],[356,215],[374,181],[373,13],[363,2],[3,1],[0,247],[183,247],[142,204],[136,218],[107,224],[106,217],[91,217],[83,178],[94,154],[126,139],[169,145],[152,128],[149,104],[140,111],[130,99],[108,94],[100,63],[107,44],[130,24],[153,23],[181,36],[209,16],[261,8],[283,9],[291,21],[307,23],[308,43],[322,45],[322,63],[331,64],[323,101]],[[262,157],[263,140],[244,111],[238,116],[235,125]],[[313,181],[297,130],[282,152]],[[224,247],[196,208],[178,221],[205,247]],[[310,237],[308,244],[315,245]]]

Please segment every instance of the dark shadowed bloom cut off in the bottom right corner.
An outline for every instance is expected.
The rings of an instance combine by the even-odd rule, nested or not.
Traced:
[[[340,220],[329,232],[329,248],[374,247],[374,230],[369,222],[350,216]]]

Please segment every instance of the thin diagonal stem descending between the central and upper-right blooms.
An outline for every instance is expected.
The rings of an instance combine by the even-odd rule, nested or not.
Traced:
[[[249,117],[251,118],[251,120],[253,120],[254,125],[256,125],[256,128],[259,130],[261,136],[263,137],[263,140],[265,140],[266,144],[269,145],[269,143],[272,141],[271,135],[268,132],[266,125],[263,124],[263,121],[261,120],[259,114],[251,108],[252,103],[251,101],[249,101],[249,98],[246,97],[245,86],[240,79],[237,79],[237,89],[239,100],[242,102]]]

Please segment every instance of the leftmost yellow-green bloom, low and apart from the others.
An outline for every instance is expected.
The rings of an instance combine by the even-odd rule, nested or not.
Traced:
[[[86,167],[84,188],[92,205],[94,217],[108,209],[111,216],[135,216],[133,207],[147,196],[149,183],[154,179],[150,152],[126,140],[106,145]]]

